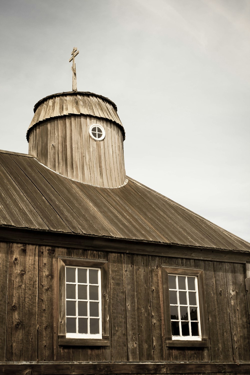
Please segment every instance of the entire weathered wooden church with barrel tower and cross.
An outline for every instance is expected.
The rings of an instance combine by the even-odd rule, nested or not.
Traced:
[[[250,374],[250,243],[126,176],[77,54],[0,151],[0,374]]]

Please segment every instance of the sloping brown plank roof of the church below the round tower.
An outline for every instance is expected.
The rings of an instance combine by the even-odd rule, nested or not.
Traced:
[[[0,151],[0,225],[203,248],[250,243],[128,178],[108,189],[63,177],[33,156]]]

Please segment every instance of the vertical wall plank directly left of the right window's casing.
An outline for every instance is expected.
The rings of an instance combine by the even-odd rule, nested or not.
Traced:
[[[162,316],[160,306],[160,258],[148,257],[150,281],[151,327],[153,341],[153,360],[163,361]]]

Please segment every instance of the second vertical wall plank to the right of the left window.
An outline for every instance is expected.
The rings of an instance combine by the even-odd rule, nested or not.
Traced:
[[[129,361],[138,361],[138,316],[137,295],[135,277],[135,257],[132,254],[124,254],[125,270],[125,297],[126,297],[126,325],[127,325],[127,356]]]

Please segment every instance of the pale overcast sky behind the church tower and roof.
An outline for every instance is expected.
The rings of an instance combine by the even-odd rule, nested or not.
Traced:
[[[117,104],[126,173],[250,241],[249,0],[1,0],[0,149],[77,87]]]

